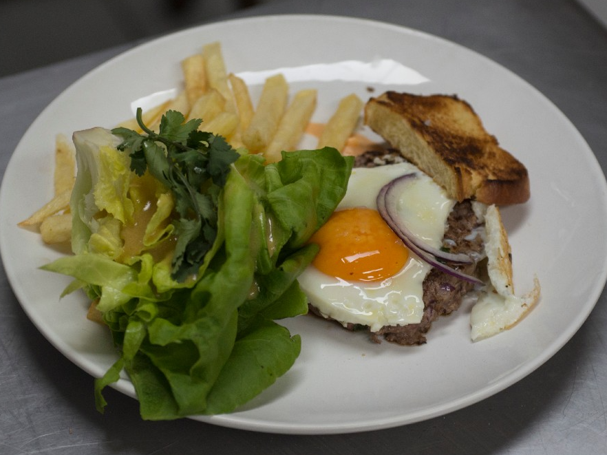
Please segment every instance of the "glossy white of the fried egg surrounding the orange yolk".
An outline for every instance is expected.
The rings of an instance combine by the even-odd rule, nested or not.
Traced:
[[[407,173],[418,177],[401,193],[398,218],[425,242],[442,244],[447,217],[455,202],[442,187],[414,165],[403,162],[373,168],[355,168],[348,190],[337,210],[366,207],[377,210],[381,187]],[[374,332],[383,326],[417,324],[423,316],[423,280],[430,266],[409,252],[409,259],[396,275],[381,282],[359,282],[332,277],[308,266],[299,285],[310,303],[325,316],[344,326],[362,324]]]

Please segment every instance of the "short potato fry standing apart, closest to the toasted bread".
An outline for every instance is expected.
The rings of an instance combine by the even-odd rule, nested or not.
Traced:
[[[352,135],[356,123],[359,121],[363,101],[356,94],[350,94],[342,98],[337,111],[329,119],[319,138],[318,148],[335,147],[343,150],[345,141]]]

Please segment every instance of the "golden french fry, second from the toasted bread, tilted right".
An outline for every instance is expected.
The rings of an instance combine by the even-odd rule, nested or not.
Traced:
[[[272,138],[272,142],[264,152],[266,162],[275,162],[281,159],[280,152],[295,149],[306,125],[316,109],[317,91],[313,89],[300,90],[295,94],[284,116],[281,118]]]

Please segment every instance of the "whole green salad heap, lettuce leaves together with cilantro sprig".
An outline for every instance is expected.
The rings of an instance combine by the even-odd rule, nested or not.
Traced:
[[[96,379],[100,411],[126,370],[144,419],[232,412],[299,355],[275,320],[307,312],[297,276],[352,158],[325,148],[265,165],[200,120],[169,112],[158,134],[138,120],[144,135],[74,134],[74,255],[43,268],[74,277],[64,293],[83,288],[111,330],[120,358]]]

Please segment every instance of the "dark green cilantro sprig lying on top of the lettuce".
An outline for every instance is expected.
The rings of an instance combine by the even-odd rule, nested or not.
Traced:
[[[200,119],[185,121],[183,114],[169,111],[162,116],[158,133],[136,119],[144,134],[119,127],[112,133],[123,138],[118,150],[129,151],[131,171],[145,171],[171,189],[177,237],[171,277],[183,282],[196,273],[217,236],[217,200],[230,165],[239,154],[222,136],[199,131]]]

